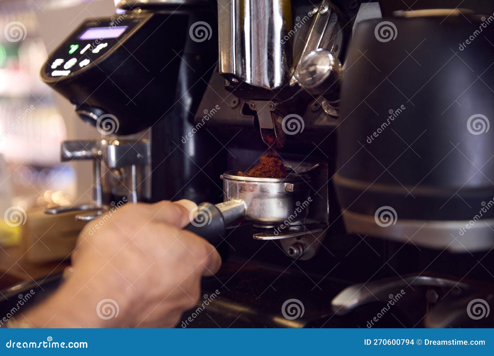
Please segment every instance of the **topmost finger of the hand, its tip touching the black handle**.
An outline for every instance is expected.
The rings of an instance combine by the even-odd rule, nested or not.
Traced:
[[[197,207],[196,203],[187,199],[176,202],[163,200],[149,205],[155,220],[166,222],[178,228],[185,227],[190,223],[191,212],[195,207]]]

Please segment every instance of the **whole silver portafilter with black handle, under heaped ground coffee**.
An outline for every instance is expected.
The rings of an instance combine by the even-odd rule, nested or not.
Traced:
[[[256,227],[274,227],[287,220],[304,221],[308,207],[302,204],[310,195],[310,176],[290,173],[287,178],[251,178],[228,171],[223,179],[223,203],[201,203],[193,212],[194,220],[186,227],[210,242],[226,232],[239,219]],[[221,241],[221,239],[219,240]]]

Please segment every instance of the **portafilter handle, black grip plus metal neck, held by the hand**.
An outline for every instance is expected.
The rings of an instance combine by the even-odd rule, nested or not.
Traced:
[[[241,219],[247,212],[247,205],[241,199],[231,199],[223,203],[201,203],[192,211],[194,220],[185,227],[205,238],[214,247],[218,246],[224,238],[226,227]]]

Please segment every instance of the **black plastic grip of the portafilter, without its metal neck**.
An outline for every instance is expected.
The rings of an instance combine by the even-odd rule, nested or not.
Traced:
[[[185,230],[205,238],[214,247],[223,241],[221,235],[226,233],[226,223],[223,214],[212,203],[198,204],[194,221]]]

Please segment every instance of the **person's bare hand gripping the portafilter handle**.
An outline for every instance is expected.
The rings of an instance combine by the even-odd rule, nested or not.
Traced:
[[[126,204],[92,220],[79,236],[69,280],[25,318],[37,327],[175,325],[198,301],[202,276],[221,265],[213,246],[182,230],[195,206]]]

